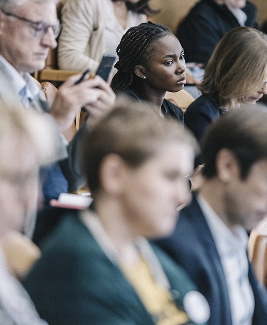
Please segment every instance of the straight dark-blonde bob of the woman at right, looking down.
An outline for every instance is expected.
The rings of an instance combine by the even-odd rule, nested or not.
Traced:
[[[266,67],[267,35],[250,27],[237,27],[216,46],[198,88],[220,107],[234,107],[261,89]]]

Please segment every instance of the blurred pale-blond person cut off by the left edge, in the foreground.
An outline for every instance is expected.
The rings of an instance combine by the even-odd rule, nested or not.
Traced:
[[[44,116],[2,103],[0,116],[0,324],[46,325],[14,277],[5,253],[11,254],[12,265],[17,265],[14,255],[19,254],[23,266],[17,265],[17,269],[23,272],[38,256],[33,243],[22,234],[29,215],[36,213],[39,166],[56,159],[56,131]]]

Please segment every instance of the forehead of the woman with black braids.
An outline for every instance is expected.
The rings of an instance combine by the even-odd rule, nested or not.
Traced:
[[[151,44],[154,48],[153,55],[164,58],[166,55],[179,56],[183,50],[179,40],[172,34],[161,37],[156,42]]]

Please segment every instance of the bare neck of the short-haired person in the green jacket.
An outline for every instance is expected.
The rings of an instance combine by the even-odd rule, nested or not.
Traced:
[[[134,242],[137,237],[118,200],[101,195],[95,201],[101,224],[123,262],[134,264],[138,253]]]

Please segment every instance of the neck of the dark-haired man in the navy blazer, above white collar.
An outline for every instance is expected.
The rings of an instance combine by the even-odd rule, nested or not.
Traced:
[[[216,215],[221,218],[221,220],[230,230],[232,230],[234,224],[229,221],[229,217],[227,215],[225,192],[222,183],[216,177],[206,180],[203,186],[200,188],[199,193],[206,200]]]

